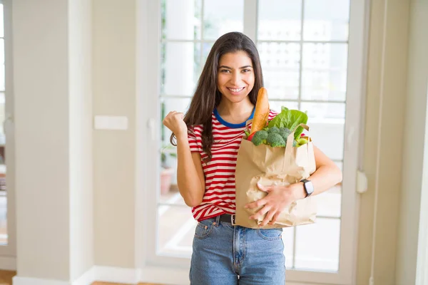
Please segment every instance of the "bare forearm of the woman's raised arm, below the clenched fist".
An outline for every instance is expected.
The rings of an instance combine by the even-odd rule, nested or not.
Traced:
[[[198,206],[205,193],[205,176],[203,174],[200,154],[190,152],[187,135],[177,138],[177,184],[185,204]]]

